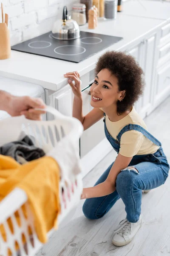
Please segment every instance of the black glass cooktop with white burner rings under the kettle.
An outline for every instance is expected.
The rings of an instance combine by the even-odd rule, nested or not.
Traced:
[[[80,35],[78,39],[63,41],[52,38],[51,32],[48,32],[21,44],[14,45],[11,49],[79,63],[123,39],[116,36],[83,31],[80,32]]]

